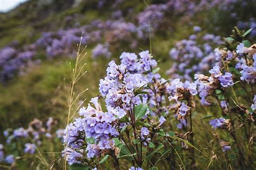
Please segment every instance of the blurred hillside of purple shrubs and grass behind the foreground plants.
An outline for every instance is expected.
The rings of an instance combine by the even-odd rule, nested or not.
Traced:
[[[75,62],[81,36],[87,73],[76,91],[88,88],[80,100],[89,100],[98,95],[107,63],[119,63],[124,51],[151,50],[168,78],[170,49],[195,33],[220,39],[237,25],[253,28],[248,39],[254,39],[255,5],[253,0],[0,0],[0,140],[5,129],[34,118],[53,117],[65,127],[63,79],[70,81],[69,62]]]

